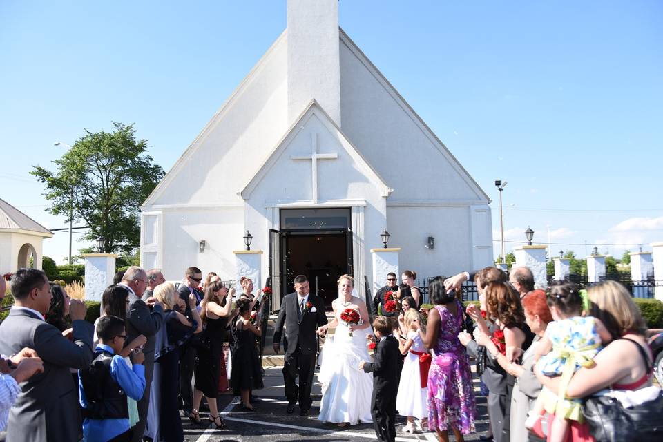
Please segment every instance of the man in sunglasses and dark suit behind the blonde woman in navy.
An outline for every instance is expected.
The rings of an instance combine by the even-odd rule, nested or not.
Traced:
[[[195,296],[195,305],[202,301],[202,292],[198,289],[202,281],[202,271],[198,267],[189,267],[184,271],[184,280],[177,289],[180,300],[184,300],[186,308],[180,313],[187,319],[192,320],[191,308],[189,307],[189,295]],[[180,350],[180,402],[184,414],[193,412],[193,369],[195,367],[195,348],[186,343]]]

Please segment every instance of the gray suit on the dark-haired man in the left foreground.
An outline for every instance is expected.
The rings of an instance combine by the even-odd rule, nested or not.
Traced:
[[[21,309],[12,309],[0,325],[0,353],[15,354],[30,347],[44,361],[44,373],[21,383],[23,392],[9,414],[8,441],[78,440],[78,386],[69,369],[84,369],[92,363],[93,326],[75,320],[72,327],[73,343],[57,328]]]

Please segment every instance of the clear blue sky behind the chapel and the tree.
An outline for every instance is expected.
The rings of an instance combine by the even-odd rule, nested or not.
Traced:
[[[580,244],[553,251],[582,256],[663,241],[663,2],[340,0],[339,14],[490,195],[495,240],[501,178],[506,240],[529,225],[545,244],[550,226]],[[135,123],[169,170],[285,26],[285,0],[0,2],[0,198],[65,227],[30,166],[111,121]],[[61,262],[67,244],[44,251]]]

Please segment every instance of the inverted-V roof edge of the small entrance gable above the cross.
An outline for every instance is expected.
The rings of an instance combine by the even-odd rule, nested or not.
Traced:
[[[325,112],[322,106],[320,106],[320,104],[315,99],[312,99],[308,106],[306,106],[304,111],[292,124],[292,126],[290,126],[290,128],[286,131],[285,135],[276,144],[276,147],[273,148],[269,154],[269,157],[267,157],[267,160],[265,160],[265,162],[263,162],[262,165],[258,168],[256,173],[253,174],[251,180],[249,180],[249,182],[242,187],[242,190],[238,191],[237,194],[240,197],[242,197],[244,200],[249,198],[251,192],[256,189],[262,179],[273,168],[273,166],[276,165],[280,155],[283,153],[283,151],[285,151],[290,142],[299,133],[297,130],[298,126],[303,126],[303,124],[305,124],[309,118],[314,115],[317,115],[320,118],[320,122],[323,123],[328,131],[338,136],[340,145],[343,146],[352,160],[358,164],[359,169],[361,169],[361,171],[369,178],[369,180],[378,186],[381,195],[386,198],[390,195],[390,193],[392,193],[394,189],[391,189],[389,186],[387,186],[385,180],[383,180],[380,174],[373,168],[373,166],[371,166],[371,164],[369,164],[366,158],[361,155],[354,144],[352,144],[352,142],[347,138],[345,133],[343,133],[343,131],[341,131],[340,128],[336,125],[336,123],[334,123],[332,117],[329,117],[329,114]]]

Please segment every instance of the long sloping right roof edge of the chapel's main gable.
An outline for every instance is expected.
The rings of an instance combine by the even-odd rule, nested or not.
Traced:
[[[452,168],[458,173],[458,175],[465,181],[466,184],[474,191],[474,193],[479,196],[479,198],[485,198],[486,202],[490,202],[490,197],[488,194],[481,189],[481,186],[474,181],[472,175],[468,173],[463,165],[457,160],[456,157],[449,151],[447,146],[435,135],[432,129],[423,121],[419,114],[414,111],[412,106],[405,101],[405,98],[398,93],[398,90],[387,80],[387,78],[380,72],[380,70],[372,63],[372,61],[362,52],[362,50],[352,41],[352,39],[345,33],[343,28],[339,27],[338,30],[339,39],[341,44],[345,46],[352,52],[352,54],[365,66],[369,73],[376,79],[376,81],[385,89],[385,91],[391,95],[394,102],[398,103],[405,113],[415,122],[419,129],[425,134],[425,136],[432,142],[432,145],[445,157],[449,162]]]

